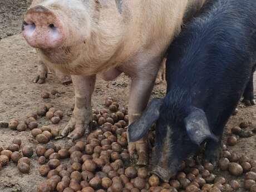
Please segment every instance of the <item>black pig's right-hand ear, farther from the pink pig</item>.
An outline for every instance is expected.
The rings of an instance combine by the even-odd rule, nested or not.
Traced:
[[[210,131],[205,112],[199,108],[193,107],[190,114],[185,118],[185,126],[189,138],[197,145],[206,139],[218,141]]]

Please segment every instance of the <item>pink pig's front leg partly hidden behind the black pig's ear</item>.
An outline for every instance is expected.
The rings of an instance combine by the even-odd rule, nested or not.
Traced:
[[[149,101],[150,93],[154,86],[154,80],[155,78],[152,78],[152,80],[132,80],[128,107],[130,124],[137,120],[140,117],[142,111],[145,109],[147,102]],[[140,129],[140,127],[138,127],[138,129]],[[134,154],[135,150],[139,155],[137,164],[146,165],[148,161],[147,136],[137,142],[129,143],[129,152],[131,156]]]

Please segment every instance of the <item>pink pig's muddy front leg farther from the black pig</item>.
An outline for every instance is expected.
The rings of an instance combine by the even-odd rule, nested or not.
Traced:
[[[61,135],[67,136],[69,134],[68,138],[75,140],[81,138],[86,131],[90,131],[89,123],[92,120],[91,95],[96,76],[74,75],[71,77],[75,86],[75,109],[71,120],[62,130]]]

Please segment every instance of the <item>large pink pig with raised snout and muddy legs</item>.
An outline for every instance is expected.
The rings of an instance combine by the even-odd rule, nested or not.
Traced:
[[[131,77],[129,122],[145,109],[169,43],[184,17],[204,0],[34,0],[24,16],[23,36],[42,63],[71,75],[75,109],[62,136],[82,137],[92,119],[96,74]],[[39,77],[40,78],[40,77]],[[147,138],[129,142],[129,152],[147,164]]]

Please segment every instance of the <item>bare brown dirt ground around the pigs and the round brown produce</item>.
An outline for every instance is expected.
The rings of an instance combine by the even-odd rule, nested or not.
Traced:
[[[22,23],[22,14],[26,11],[29,1],[0,0],[0,121],[8,121],[16,118],[24,120],[27,112],[36,111],[38,106],[50,102],[58,109],[65,112],[63,120],[56,125],[62,129],[70,119],[67,114],[70,113],[74,92],[72,85],[64,86],[50,74],[43,85],[32,82],[37,71],[37,57],[35,51],[27,45],[20,32]],[[2,40],[1,40],[2,38]],[[105,82],[98,80],[96,89],[93,93],[93,109],[101,109],[107,96],[114,97],[122,105],[127,106],[129,98],[128,77],[121,75],[116,81]],[[59,97],[51,96],[50,99],[43,100],[41,93],[50,92],[56,89],[61,92]],[[157,85],[152,91],[152,97],[163,96],[165,84]],[[225,137],[229,135],[230,129],[239,125],[242,121],[250,122],[250,127],[256,125],[256,107],[238,106],[238,114],[232,116],[225,130]],[[50,124],[45,118],[39,121],[40,126]],[[11,144],[13,138],[22,139],[22,146],[36,146],[35,140],[28,131],[17,132],[10,129],[0,129],[0,146],[7,147]],[[256,136],[239,139],[237,145],[231,147],[232,151],[238,152],[239,155],[248,155],[256,159]],[[66,145],[68,140],[61,139],[53,141],[60,145]],[[35,192],[36,185],[45,178],[38,173],[39,165],[36,155],[32,157],[32,165],[29,174],[19,173],[17,166],[9,163],[0,171],[0,191],[1,192]],[[224,175],[230,178],[227,173],[216,171],[218,175]],[[235,178],[241,181],[241,178]],[[239,191],[244,191],[242,188]]]

